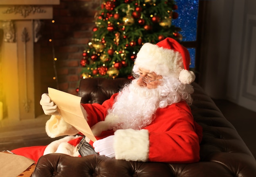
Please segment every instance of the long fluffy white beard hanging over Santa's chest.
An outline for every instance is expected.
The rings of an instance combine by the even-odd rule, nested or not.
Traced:
[[[158,88],[140,87],[133,80],[119,93],[105,120],[111,122],[110,129],[114,131],[128,128],[140,130],[155,118],[160,97]]]

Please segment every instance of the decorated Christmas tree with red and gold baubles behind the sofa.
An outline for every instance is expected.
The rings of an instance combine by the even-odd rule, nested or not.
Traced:
[[[166,37],[181,40],[173,0],[103,0],[93,36],[83,51],[81,78],[132,78],[131,69],[144,43]]]

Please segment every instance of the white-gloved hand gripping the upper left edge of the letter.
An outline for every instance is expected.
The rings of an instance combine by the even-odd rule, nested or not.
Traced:
[[[51,100],[48,94],[42,94],[40,105],[46,115],[59,115],[57,105]]]

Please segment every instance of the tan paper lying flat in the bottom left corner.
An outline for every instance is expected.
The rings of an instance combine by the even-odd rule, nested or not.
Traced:
[[[27,157],[0,152],[0,177],[17,177],[34,163]]]

